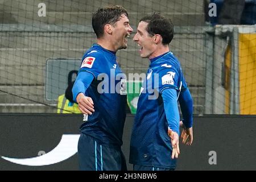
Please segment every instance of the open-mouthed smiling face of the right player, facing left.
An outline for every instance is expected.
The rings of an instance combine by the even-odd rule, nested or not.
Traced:
[[[138,46],[141,46],[141,57],[151,59],[152,54],[156,50],[156,44],[154,42],[155,37],[150,36],[147,32],[147,24],[147,22],[139,22],[133,41],[137,42]]]

